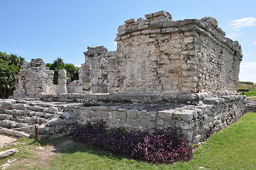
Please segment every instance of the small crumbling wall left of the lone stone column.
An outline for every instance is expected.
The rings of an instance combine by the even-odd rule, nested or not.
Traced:
[[[29,96],[34,97],[37,94],[56,94],[57,85],[53,84],[54,71],[45,67],[42,59],[32,59],[31,62],[25,62],[19,72],[18,84],[14,97]]]

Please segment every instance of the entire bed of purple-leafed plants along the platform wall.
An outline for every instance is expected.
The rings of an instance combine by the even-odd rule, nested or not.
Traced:
[[[176,130],[155,128],[148,131],[127,130],[127,128],[105,128],[106,122],[77,125],[72,137],[76,142],[93,145],[116,154],[152,163],[187,162],[192,154],[192,147],[182,142]]]

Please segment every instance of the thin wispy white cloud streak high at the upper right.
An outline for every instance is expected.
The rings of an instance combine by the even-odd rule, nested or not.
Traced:
[[[236,29],[256,26],[256,18],[248,17],[248,18],[233,20],[233,21],[230,21],[230,26]]]

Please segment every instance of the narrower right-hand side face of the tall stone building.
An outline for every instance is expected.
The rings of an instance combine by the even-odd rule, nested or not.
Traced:
[[[202,18],[195,37],[200,91],[237,91],[241,46],[225,38],[215,18]]]

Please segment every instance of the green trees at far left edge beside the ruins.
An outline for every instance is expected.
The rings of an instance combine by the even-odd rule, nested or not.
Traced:
[[[0,98],[13,95],[18,81],[18,72],[25,59],[17,55],[0,52]]]

